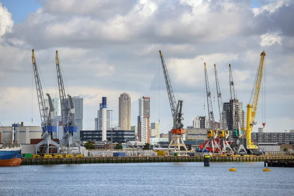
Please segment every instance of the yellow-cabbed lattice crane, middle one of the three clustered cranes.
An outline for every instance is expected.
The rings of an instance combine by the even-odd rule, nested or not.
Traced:
[[[214,64],[214,67],[215,67],[215,78],[216,78],[216,85],[217,85],[218,103],[219,103],[219,111],[220,111],[220,124],[221,124],[221,130],[219,130],[218,132],[218,135],[220,138],[218,145],[224,151],[227,151],[227,149],[230,149],[231,151],[233,151],[233,149],[230,147],[230,145],[227,142],[230,132],[228,130],[226,119],[224,118],[223,105],[222,105],[222,99],[221,99],[221,88],[220,88],[216,64]]]

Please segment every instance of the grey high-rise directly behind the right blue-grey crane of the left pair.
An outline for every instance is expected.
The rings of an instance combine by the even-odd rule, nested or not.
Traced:
[[[73,139],[79,141],[80,131],[83,130],[83,98],[78,96],[72,98],[75,109],[75,125],[77,126],[77,133],[73,134]]]

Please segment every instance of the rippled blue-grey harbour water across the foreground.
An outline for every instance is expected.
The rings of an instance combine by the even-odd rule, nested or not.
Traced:
[[[293,168],[263,169],[263,162],[1,167],[0,196],[294,195]]]

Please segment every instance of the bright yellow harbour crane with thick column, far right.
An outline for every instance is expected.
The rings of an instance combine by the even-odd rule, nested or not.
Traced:
[[[261,90],[261,83],[264,71],[266,52],[263,51],[260,55],[259,67],[255,76],[254,85],[249,98],[249,103],[247,104],[247,118],[246,118],[246,139],[247,139],[247,149],[257,149],[257,146],[253,145],[251,142],[251,133],[253,125],[256,124],[255,118],[257,113],[258,99]],[[253,98],[252,104],[250,104]],[[265,123],[263,123],[265,126]]]

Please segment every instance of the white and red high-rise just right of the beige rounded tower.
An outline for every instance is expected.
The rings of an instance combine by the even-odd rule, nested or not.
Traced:
[[[150,98],[139,98],[138,138],[142,143],[149,143],[150,135]]]

